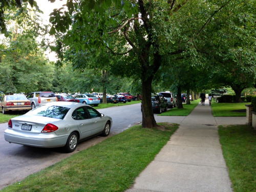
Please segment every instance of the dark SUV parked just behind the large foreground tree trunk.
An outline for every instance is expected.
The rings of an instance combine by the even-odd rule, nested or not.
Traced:
[[[152,108],[154,113],[161,114],[163,111],[167,111],[168,103],[162,95],[153,95],[151,96]],[[142,102],[141,102],[141,111],[142,111]]]

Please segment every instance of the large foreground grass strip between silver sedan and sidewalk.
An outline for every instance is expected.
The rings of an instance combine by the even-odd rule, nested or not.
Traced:
[[[131,127],[2,191],[124,191],[178,128],[160,125],[166,130]]]

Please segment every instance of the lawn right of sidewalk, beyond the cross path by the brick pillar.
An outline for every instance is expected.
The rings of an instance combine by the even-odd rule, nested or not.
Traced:
[[[214,117],[246,117],[246,112],[238,112],[245,110],[245,104],[250,103],[217,103],[211,102],[212,115]]]

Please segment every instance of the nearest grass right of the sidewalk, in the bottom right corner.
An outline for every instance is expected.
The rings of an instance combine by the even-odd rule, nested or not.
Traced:
[[[256,191],[256,130],[249,125],[219,126],[219,135],[234,192]]]

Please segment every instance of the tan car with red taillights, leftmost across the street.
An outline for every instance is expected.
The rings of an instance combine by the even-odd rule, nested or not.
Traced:
[[[4,95],[0,99],[0,110],[3,114],[7,111],[29,111],[31,102],[25,95]]]

